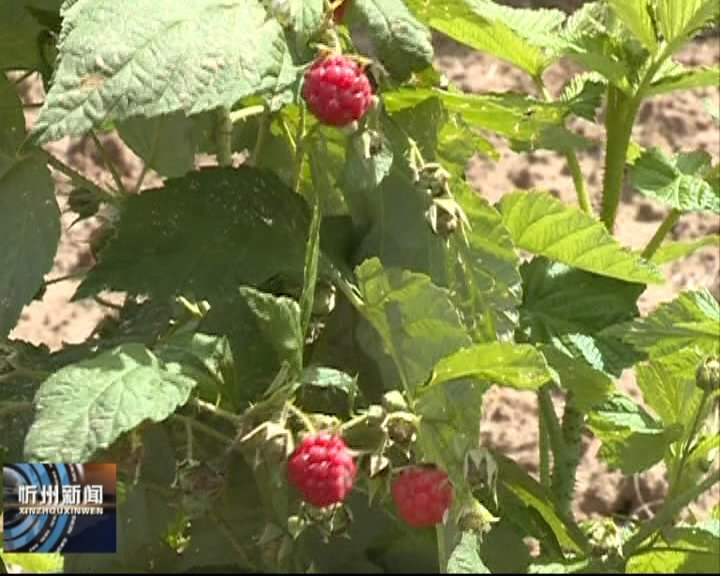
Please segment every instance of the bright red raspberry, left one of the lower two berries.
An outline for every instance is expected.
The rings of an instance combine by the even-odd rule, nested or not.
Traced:
[[[288,461],[288,479],[305,502],[324,508],[342,502],[352,490],[356,467],[340,436],[306,436]]]

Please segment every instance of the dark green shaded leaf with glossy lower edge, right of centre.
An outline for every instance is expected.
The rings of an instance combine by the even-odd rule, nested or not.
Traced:
[[[530,342],[551,344],[617,377],[637,360],[619,336],[601,331],[638,315],[637,299],[644,286],[573,270],[544,258],[524,264],[521,272],[520,333]]]

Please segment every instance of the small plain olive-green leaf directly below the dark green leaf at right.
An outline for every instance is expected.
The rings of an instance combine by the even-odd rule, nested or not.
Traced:
[[[554,346],[544,345],[540,349],[547,363],[557,372],[560,385],[572,392],[575,407],[581,412],[589,412],[613,393],[615,385],[607,374]]]

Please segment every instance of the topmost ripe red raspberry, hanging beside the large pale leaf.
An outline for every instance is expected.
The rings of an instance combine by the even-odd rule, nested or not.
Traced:
[[[305,73],[303,97],[318,120],[345,126],[367,112],[372,86],[355,60],[342,55],[326,56]]]

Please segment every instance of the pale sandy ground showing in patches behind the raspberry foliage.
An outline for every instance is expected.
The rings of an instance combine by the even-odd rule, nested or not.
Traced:
[[[516,1],[515,4],[524,4]],[[576,2],[575,2],[576,3]],[[552,2],[548,2],[552,4]],[[558,4],[556,2],[555,4]],[[568,2],[564,2],[568,4]],[[570,2],[574,4],[574,2]],[[720,61],[720,43],[715,38],[696,42],[685,50],[682,59],[688,64],[712,64]],[[521,72],[484,55],[471,54],[449,42],[440,42],[437,61],[449,78],[468,91],[532,91],[532,84]],[[570,67],[560,65],[546,74],[546,83],[557,94]],[[29,88],[27,100],[42,98],[38,87]],[[643,146],[659,146],[666,152],[677,150],[707,150],[714,161],[720,156],[720,135],[711,123],[703,102],[709,99],[716,108],[720,105],[717,89],[684,92],[669,97],[659,97],[648,102],[640,111],[640,123],[634,133]],[[28,113],[28,122],[33,113]],[[587,135],[602,135],[601,129],[586,122],[579,122],[578,129]],[[121,175],[132,186],[140,170],[140,161],[115,138],[103,139]],[[102,166],[102,160],[91,140],[65,139],[52,144],[52,153],[71,163],[89,178],[100,184],[111,184],[110,175]],[[476,189],[491,201],[516,188],[536,187],[549,190],[568,202],[574,202],[572,181],[564,160],[552,153],[539,152],[529,157],[515,155],[506,147],[502,156],[493,163],[485,158],[475,158],[468,166],[468,176]],[[595,207],[599,205],[602,180],[601,150],[580,155],[583,173],[588,180]],[[55,173],[58,184],[58,201],[63,211],[69,187],[67,179]],[[152,178],[146,186],[156,183]],[[626,190],[618,215],[617,234],[620,242],[640,248],[653,235],[666,211],[657,204]],[[88,240],[97,228],[97,220],[90,220],[70,227],[74,214],[64,212],[63,236],[48,278],[60,278],[82,271],[92,262]],[[720,221],[713,215],[683,216],[672,232],[675,239],[698,238],[708,232],[720,231]],[[642,296],[643,312],[653,309],[661,302],[671,300],[679,291],[702,286],[709,287],[720,299],[718,285],[720,255],[706,249],[682,263],[667,269],[667,283],[648,289]],[[64,342],[81,342],[108,309],[95,302],[69,303],[68,299],[77,286],[76,280],[50,285],[42,301],[34,302],[23,312],[22,319],[12,336],[44,343],[57,349]],[[619,387],[639,397],[631,372],[619,381]],[[537,406],[533,394],[513,390],[492,389],[486,395],[485,416],[482,423],[485,440],[516,458],[533,473],[537,473]],[[664,471],[657,467],[637,477],[623,479],[609,472],[599,459],[599,443],[592,438],[584,442],[584,455],[578,474],[575,512],[580,518],[593,514],[638,513],[656,509],[662,502],[665,489]],[[718,492],[708,495],[697,509],[702,512],[712,502],[720,500]]]

